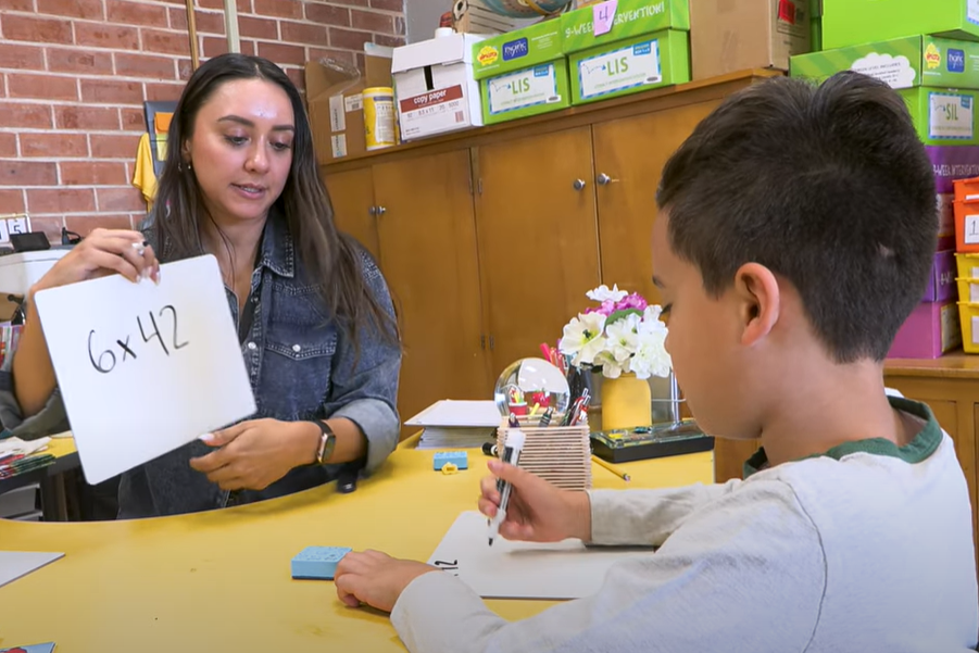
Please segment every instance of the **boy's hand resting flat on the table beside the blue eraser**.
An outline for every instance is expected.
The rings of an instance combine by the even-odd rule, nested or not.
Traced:
[[[337,565],[334,580],[337,595],[350,607],[366,603],[371,607],[391,612],[412,580],[440,570],[412,560],[398,560],[380,551],[351,551]]]

